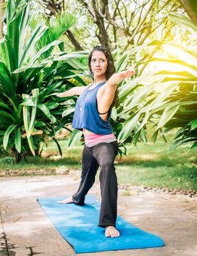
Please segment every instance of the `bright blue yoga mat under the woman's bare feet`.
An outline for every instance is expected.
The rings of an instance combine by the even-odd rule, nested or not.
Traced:
[[[76,253],[163,246],[160,237],[134,227],[121,217],[117,217],[116,223],[120,236],[106,238],[105,229],[98,227],[99,200],[89,195],[85,197],[85,206],[77,206],[74,203],[58,204],[58,200],[64,198],[43,198],[38,199],[38,202],[61,236],[74,247]]]

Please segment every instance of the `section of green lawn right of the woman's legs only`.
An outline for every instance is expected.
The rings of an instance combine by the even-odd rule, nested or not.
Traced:
[[[197,190],[197,150],[168,149],[163,142],[128,147],[128,157],[116,166],[119,183]]]

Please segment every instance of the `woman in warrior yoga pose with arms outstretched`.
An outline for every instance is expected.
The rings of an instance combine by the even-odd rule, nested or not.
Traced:
[[[89,58],[93,83],[74,87],[58,97],[80,95],[77,99],[72,128],[80,129],[85,138],[82,151],[80,187],[72,197],[58,203],[84,205],[85,195],[93,186],[99,166],[101,209],[99,227],[105,228],[106,237],[120,236],[115,228],[117,219],[117,177],[114,161],[118,151],[117,139],[112,132],[110,115],[117,95],[117,83],[134,75],[133,69],[115,73],[112,55],[107,48],[96,46]]]

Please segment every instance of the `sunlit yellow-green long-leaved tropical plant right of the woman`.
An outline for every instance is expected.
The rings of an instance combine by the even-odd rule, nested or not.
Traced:
[[[179,24],[190,26],[194,31],[197,31],[196,25],[182,15],[171,14],[171,20]],[[196,59],[195,50],[182,47],[174,42],[162,42],[155,40],[149,45],[171,45],[183,52],[189,54]],[[195,65],[182,61],[181,59],[159,59],[152,58],[152,61],[167,61],[169,63],[180,64],[185,67],[184,71],[173,72],[169,70],[161,70],[155,74],[142,75],[134,79],[131,83],[125,86],[125,102],[123,102],[123,114],[128,114],[129,117],[123,124],[123,129],[118,135],[118,140],[124,142],[131,132],[134,131],[136,124],[139,124],[136,129],[132,142],[136,144],[139,136],[144,134],[144,128],[148,123],[155,124],[155,132],[152,135],[152,140],[155,142],[158,137],[158,132],[161,131],[164,140],[165,132],[170,129],[179,128],[171,148],[176,148],[183,143],[193,142],[191,148],[197,146],[197,68]],[[144,63],[141,63],[144,64]],[[188,71],[189,70],[189,71]],[[152,76],[153,83],[147,83],[146,86],[141,86],[143,80]],[[158,91],[158,88],[163,88]],[[132,94],[128,94],[128,91]],[[166,128],[163,131],[163,128]]]

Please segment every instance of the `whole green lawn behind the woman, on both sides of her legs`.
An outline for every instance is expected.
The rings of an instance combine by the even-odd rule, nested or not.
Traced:
[[[42,157],[28,157],[22,164],[7,163],[0,159],[0,175],[5,170],[20,170],[20,175],[53,174],[58,168],[79,170],[83,146],[66,148],[66,140],[60,140],[63,157],[51,141],[42,152]],[[127,157],[116,158],[116,173],[119,184],[144,185],[197,190],[197,149],[189,151],[188,145],[169,152],[169,144],[139,143],[137,148],[127,146]],[[27,171],[28,170],[28,171]],[[43,170],[43,172],[40,170]],[[96,178],[99,178],[99,173]]]

